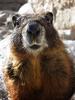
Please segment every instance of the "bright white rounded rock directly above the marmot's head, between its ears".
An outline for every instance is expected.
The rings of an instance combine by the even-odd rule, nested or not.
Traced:
[[[37,9],[36,9],[37,8]],[[37,5],[37,4],[32,4],[30,2],[24,4],[23,6],[20,7],[18,10],[18,14],[34,14],[34,13],[43,13],[45,12],[45,9],[42,5]]]

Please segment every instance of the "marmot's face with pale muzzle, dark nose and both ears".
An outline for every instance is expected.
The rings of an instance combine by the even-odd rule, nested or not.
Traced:
[[[15,15],[12,20],[15,33],[21,35],[23,48],[28,52],[38,53],[49,46],[49,40],[47,39],[49,36],[46,34],[48,33],[46,28],[53,26],[53,15],[51,12],[40,15]]]

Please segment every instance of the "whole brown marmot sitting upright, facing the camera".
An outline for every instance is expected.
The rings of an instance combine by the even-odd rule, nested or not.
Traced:
[[[11,100],[69,100],[73,63],[53,26],[53,14],[14,15],[4,79]]]

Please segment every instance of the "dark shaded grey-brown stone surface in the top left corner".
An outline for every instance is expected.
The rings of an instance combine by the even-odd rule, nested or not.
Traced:
[[[0,10],[17,11],[27,0],[0,0]]]

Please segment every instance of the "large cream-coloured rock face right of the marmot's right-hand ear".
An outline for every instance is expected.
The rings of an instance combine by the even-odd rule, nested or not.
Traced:
[[[57,29],[69,29],[75,25],[75,7],[58,10],[55,24]]]

